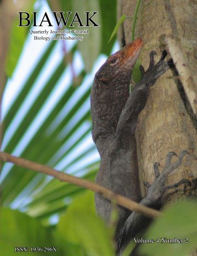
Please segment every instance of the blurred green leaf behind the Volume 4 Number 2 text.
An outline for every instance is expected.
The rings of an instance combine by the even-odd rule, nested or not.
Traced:
[[[159,243],[142,244],[139,248],[140,255],[189,255],[189,253],[196,248],[196,212],[196,201],[177,202],[164,211],[162,217],[156,219],[155,223],[152,224],[151,228],[146,233],[147,239],[155,239],[156,241],[158,238]],[[162,243],[162,238],[182,239],[182,243]]]

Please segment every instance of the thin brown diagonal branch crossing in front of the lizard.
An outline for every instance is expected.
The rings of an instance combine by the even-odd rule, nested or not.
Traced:
[[[3,162],[12,162],[15,165],[34,170],[36,172],[45,173],[46,175],[55,177],[63,182],[68,182],[80,187],[88,188],[88,190],[102,194],[102,196],[104,196],[105,198],[113,200],[121,206],[130,209],[131,211],[141,213],[146,217],[155,218],[161,215],[161,213],[156,211],[155,209],[142,206],[141,204],[131,201],[126,197],[120,196],[120,194],[116,194],[113,191],[110,191],[107,188],[98,185],[97,183],[74,177],[72,175],[68,175],[61,171],[57,171],[51,167],[40,165],[39,163],[31,162],[24,158],[15,157],[5,152],[0,152],[0,160],[2,160]]]

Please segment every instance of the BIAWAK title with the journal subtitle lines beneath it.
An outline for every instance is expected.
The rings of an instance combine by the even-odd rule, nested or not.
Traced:
[[[43,25],[47,27],[67,27],[67,29],[61,30],[34,30],[30,29],[29,33],[34,35],[34,40],[83,40],[82,34],[88,34],[88,29],[68,29],[70,27],[100,27],[94,21],[94,16],[98,12],[84,12],[83,19],[79,17],[78,12],[72,14],[72,12],[51,12],[52,16],[55,18],[50,19],[50,15],[47,12],[41,17],[41,19],[37,17],[38,12],[18,12],[19,13],[19,25],[18,27],[43,27]],[[39,21],[40,20],[40,21]]]

